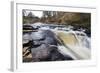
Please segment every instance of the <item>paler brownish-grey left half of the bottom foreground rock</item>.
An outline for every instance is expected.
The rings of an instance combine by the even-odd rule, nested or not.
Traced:
[[[49,46],[42,44],[38,47],[31,48],[33,61],[40,61],[40,59],[45,59],[50,54]]]

